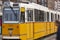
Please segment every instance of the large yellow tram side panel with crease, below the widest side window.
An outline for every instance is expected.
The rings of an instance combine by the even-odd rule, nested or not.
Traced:
[[[35,22],[34,23],[34,38],[40,38],[46,35],[46,23]]]

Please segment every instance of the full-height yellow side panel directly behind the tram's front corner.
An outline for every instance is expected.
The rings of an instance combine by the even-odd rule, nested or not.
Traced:
[[[20,39],[22,40],[27,40],[27,24],[26,23],[21,23],[19,24],[19,29],[20,29]]]

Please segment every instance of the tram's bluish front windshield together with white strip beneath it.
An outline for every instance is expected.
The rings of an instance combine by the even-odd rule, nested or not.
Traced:
[[[19,8],[4,8],[3,22],[4,23],[18,23],[19,22]]]

